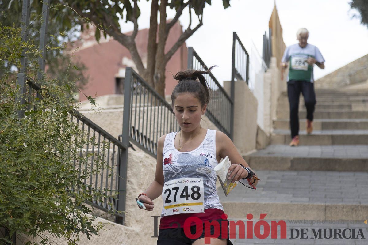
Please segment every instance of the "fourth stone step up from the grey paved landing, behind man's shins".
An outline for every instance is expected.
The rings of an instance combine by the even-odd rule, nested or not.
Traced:
[[[368,118],[368,111],[315,111],[314,119],[359,119]],[[276,116],[278,119],[289,119],[289,111],[277,111]],[[300,111],[299,118],[306,118],[307,112]]]

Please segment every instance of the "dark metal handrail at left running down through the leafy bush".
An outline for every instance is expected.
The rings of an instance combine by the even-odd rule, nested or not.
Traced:
[[[35,98],[44,99],[42,96],[43,88],[35,81],[29,79],[24,73],[18,73],[18,85],[20,85],[20,92],[18,101],[31,102],[35,100]],[[20,84],[19,81],[25,80],[24,84]],[[27,88],[28,87],[28,88]],[[24,92],[22,94],[22,92]],[[46,92],[47,96],[55,98],[52,94]],[[24,116],[24,109],[30,110],[31,103],[28,103],[25,108],[18,110],[18,116],[21,118]],[[86,154],[88,152],[97,152],[97,154],[101,154],[102,158],[106,159],[105,163],[110,167],[110,170],[101,170],[100,174],[90,174],[86,179],[84,179],[84,184],[92,186],[94,189],[103,190],[104,188],[111,190],[111,194],[113,192],[118,192],[118,196],[115,198],[110,198],[110,200],[104,200],[104,202],[99,202],[98,200],[93,199],[91,204],[92,206],[99,208],[101,210],[111,210],[114,209],[116,211],[125,211],[125,196],[126,196],[126,188],[122,188],[121,185],[126,185],[126,159],[122,158],[123,152],[128,151],[128,144],[122,143],[120,140],[109,134],[106,130],[102,129],[102,127],[96,125],[96,123],[92,122],[91,119],[88,119],[86,116],[82,115],[75,109],[71,109],[69,111],[70,120],[77,123],[77,125],[82,129],[83,133],[85,133],[89,139],[92,137],[95,138],[95,144],[92,144],[90,147],[89,144],[86,145],[86,148],[74,149],[78,150],[79,154]],[[103,145],[108,145],[107,150],[103,148]],[[95,145],[97,145],[95,147]],[[102,149],[102,150],[101,150]],[[72,160],[74,165],[77,165],[77,159],[74,158]],[[79,174],[81,174],[82,170],[87,169],[87,165],[94,165],[94,156],[89,158],[86,162],[79,162]],[[78,191],[78,190],[74,190]],[[107,201],[110,201],[112,205],[108,205]],[[116,221],[118,223],[124,224],[124,215],[121,215],[117,212],[114,213],[116,216]]]

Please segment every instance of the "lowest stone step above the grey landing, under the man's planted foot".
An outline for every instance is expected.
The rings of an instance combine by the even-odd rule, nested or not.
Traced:
[[[269,145],[243,158],[259,170],[368,172],[368,145]]]

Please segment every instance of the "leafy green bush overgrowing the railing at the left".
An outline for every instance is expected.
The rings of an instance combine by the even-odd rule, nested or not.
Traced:
[[[0,233],[0,244],[11,243],[14,234],[40,241],[26,244],[47,244],[49,234],[66,238],[70,244],[81,233],[89,238],[103,224],[86,215],[91,209],[84,203],[109,200],[106,193],[110,191],[95,190],[84,181],[101,169],[110,170],[103,161],[107,145],[99,155],[83,150],[97,143],[71,120],[70,111],[77,107],[70,96],[73,82],[45,78],[40,82],[42,99],[32,90],[24,95],[31,98],[26,107],[21,105],[14,67],[20,66],[21,52],[27,48],[35,58],[26,74],[35,77],[33,61],[40,53],[31,43],[21,41],[20,29],[0,24],[0,40],[0,66],[7,68],[0,78],[0,231],[8,233],[3,238]],[[17,110],[24,110],[25,117],[18,118]],[[88,164],[92,155],[93,165]]]

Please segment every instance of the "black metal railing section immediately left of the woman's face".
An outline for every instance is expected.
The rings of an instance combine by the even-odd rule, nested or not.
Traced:
[[[158,139],[179,131],[173,109],[132,68],[125,70],[123,136],[156,157]]]

